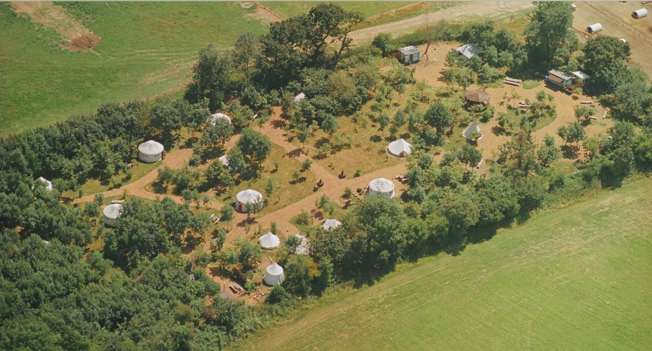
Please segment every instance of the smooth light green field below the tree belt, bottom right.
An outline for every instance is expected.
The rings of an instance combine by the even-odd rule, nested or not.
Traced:
[[[334,294],[246,350],[649,350],[652,179]]]

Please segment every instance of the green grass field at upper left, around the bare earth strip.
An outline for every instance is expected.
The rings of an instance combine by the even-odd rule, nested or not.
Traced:
[[[102,42],[68,52],[61,38],[0,5],[0,135],[93,112],[102,102],[180,87],[197,51],[266,25],[234,3],[60,3]],[[237,25],[233,21],[237,20]]]

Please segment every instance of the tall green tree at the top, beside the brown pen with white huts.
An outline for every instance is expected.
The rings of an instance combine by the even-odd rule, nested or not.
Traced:
[[[577,43],[572,31],[571,4],[537,3],[532,19],[524,30],[524,37],[531,62],[539,63],[541,69],[550,69],[557,55],[572,52]]]

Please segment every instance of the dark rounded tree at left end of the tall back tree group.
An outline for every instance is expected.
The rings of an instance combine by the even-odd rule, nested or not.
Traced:
[[[226,97],[230,63],[212,44],[200,49],[197,63],[192,67],[192,82],[185,93],[186,100],[195,103],[209,100],[211,111],[217,110]]]

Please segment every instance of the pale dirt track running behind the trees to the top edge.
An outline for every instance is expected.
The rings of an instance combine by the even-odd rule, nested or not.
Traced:
[[[371,40],[378,33],[391,33],[393,37],[424,25],[427,23],[438,21],[452,21],[460,20],[461,18],[471,17],[493,17],[499,14],[506,14],[509,12],[516,12],[526,8],[533,7],[534,5],[525,1],[499,1],[487,3],[469,3],[458,5],[454,7],[444,8],[437,12],[430,12],[428,14],[421,14],[406,20],[400,20],[391,23],[376,25],[364,29],[352,31],[349,37],[354,40]]]

